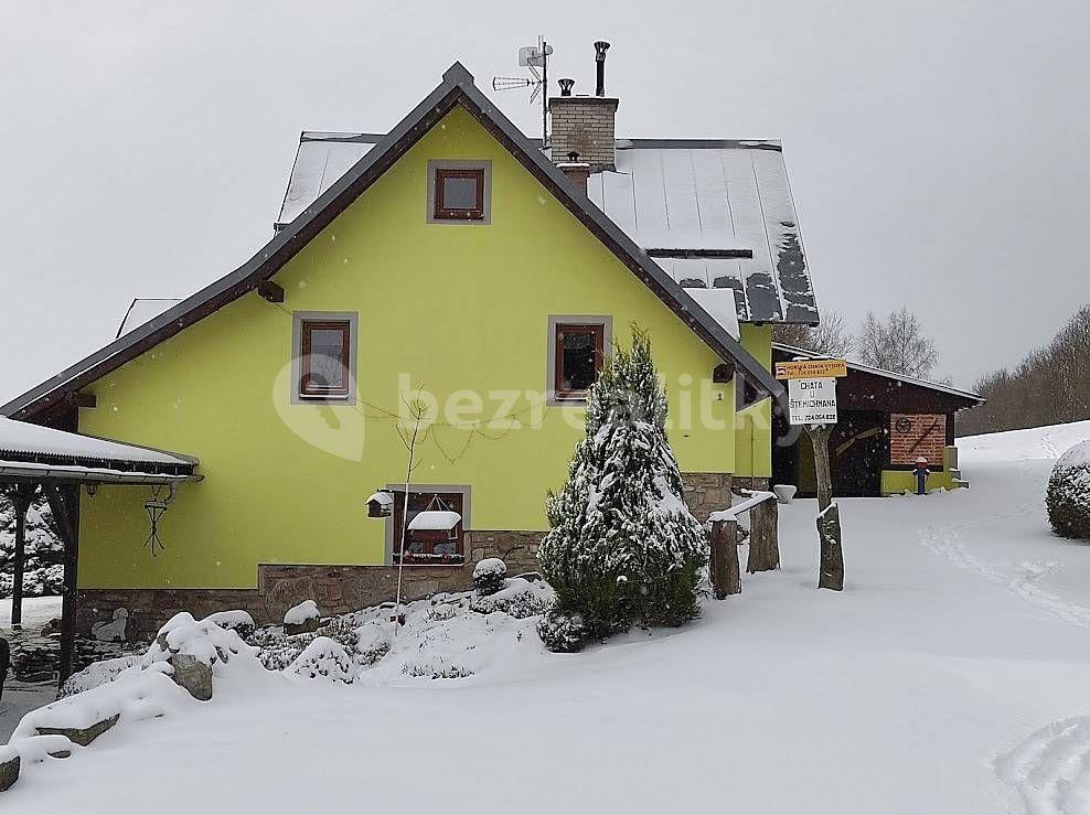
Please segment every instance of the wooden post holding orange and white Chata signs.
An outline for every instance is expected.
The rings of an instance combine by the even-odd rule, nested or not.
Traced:
[[[833,503],[829,437],[836,425],[836,379],[847,376],[843,360],[800,360],[776,363],[776,378],[788,380],[788,420],[806,429],[814,448],[818,476],[818,537],[821,541],[818,588],[844,589],[844,551],[840,508]]]

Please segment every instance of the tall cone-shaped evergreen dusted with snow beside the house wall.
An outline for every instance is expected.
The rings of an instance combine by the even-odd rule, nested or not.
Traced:
[[[633,330],[587,396],[586,437],[548,495],[538,551],[556,611],[579,614],[588,636],[678,625],[699,611],[707,538],[682,501],[665,421],[651,343]]]

